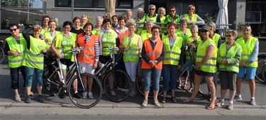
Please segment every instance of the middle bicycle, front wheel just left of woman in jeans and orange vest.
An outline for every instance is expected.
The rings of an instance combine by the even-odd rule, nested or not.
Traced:
[[[121,53],[118,53],[117,56],[114,54],[118,49],[109,47],[109,50],[111,50],[111,59],[104,63],[103,67],[97,70],[95,76],[103,81],[106,97],[112,102],[123,102],[133,90],[131,79],[126,72],[116,68],[117,61],[121,59]],[[112,90],[116,94],[112,94]]]

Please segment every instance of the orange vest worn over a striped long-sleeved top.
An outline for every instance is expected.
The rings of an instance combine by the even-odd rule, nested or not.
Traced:
[[[99,36],[92,35],[91,39],[85,43],[85,36],[83,36],[83,33],[77,35],[77,44],[83,48],[82,53],[77,55],[77,60],[79,62],[85,62],[89,64],[93,64],[95,62],[94,43],[96,40],[99,40]]]

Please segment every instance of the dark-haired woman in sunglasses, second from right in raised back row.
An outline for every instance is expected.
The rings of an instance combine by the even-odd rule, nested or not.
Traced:
[[[179,23],[180,17],[177,14],[177,9],[175,6],[170,6],[169,14],[165,17],[165,23]]]

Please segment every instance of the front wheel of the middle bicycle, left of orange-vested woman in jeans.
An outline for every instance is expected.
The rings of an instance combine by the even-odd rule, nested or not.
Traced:
[[[104,77],[104,93],[112,102],[123,102],[131,91],[131,79],[126,72],[114,70]]]

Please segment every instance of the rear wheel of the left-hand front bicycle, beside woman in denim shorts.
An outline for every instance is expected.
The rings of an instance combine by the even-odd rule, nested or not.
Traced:
[[[51,96],[56,96],[59,92],[60,85],[62,85],[57,72],[58,68],[51,70],[48,67],[43,72],[43,87]]]

